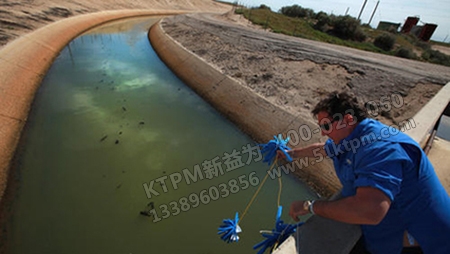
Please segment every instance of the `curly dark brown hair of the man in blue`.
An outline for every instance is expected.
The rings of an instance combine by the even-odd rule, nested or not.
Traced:
[[[356,122],[361,122],[368,117],[367,111],[360,105],[356,96],[347,92],[334,91],[321,100],[312,110],[314,116],[325,111],[333,118],[351,114]]]

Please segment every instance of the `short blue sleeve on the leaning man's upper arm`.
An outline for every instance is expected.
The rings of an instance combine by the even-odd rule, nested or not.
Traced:
[[[391,201],[400,192],[403,168],[409,160],[399,144],[376,142],[357,153],[354,187],[374,187]]]

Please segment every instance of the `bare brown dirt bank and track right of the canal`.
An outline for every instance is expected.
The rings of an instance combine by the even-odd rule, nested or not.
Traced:
[[[379,104],[371,111],[375,118],[401,124],[450,81],[448,67],[274,34],[231,13],[172,17],[163,28],[223,73],[293,114],[309,112],[328,92],[348,90],[363,103]],[[393,94],[403,102],[383,112],[383,96]]]

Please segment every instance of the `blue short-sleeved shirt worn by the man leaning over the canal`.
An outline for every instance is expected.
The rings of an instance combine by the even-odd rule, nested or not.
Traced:
[[[372,253],[401,253],[407,230],[426,254],[450,253],[450,198],[420,146],[409,136],[365,119],[339,144],[325,150],[333,160],[344,197],[374,187],[391,200],[378,225],[362,225]]]

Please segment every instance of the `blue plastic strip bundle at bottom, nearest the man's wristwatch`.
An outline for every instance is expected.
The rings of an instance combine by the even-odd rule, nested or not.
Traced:
[[[292,235],[297,230],[298,226],[303,224],[303,222],[296,224],[284,224],[284,222],[280,219],[282,210],[283,207],[279,206],[275,229],[272,229],[272,231],[262,231],[261,235],[266,239],[253,246],[254,250],[261,248],[258,251],[258,254],[263,254],[267,249],[274,249],[283,243],[290,235]]]

